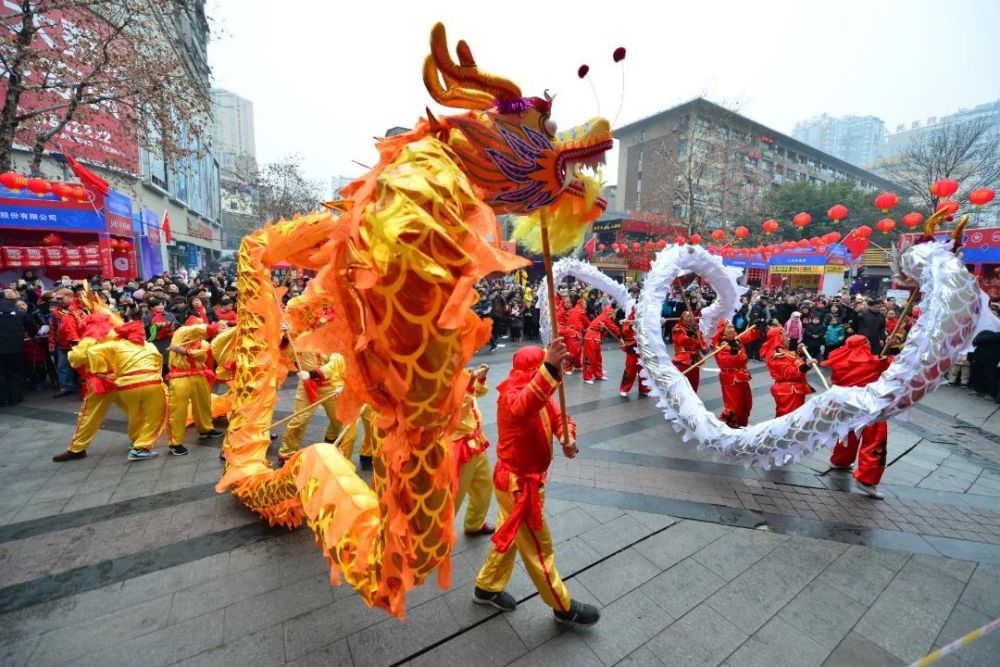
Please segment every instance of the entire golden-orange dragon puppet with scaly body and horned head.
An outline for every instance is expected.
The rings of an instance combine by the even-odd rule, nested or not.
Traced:
[[[377,166],[326,212],[269,224],[238,256],[239,321],[233,408],[224,445],[230,490],[272,524],[313,530],[331,566],[372,606],[400,618],[406,592],[435,569],[449,585],[454,542],[449,435],[460,414],[473,352],[490,323],[471,310],[487,275],[529,264],[500,251],[496,213],[541,216],[553,246],[578,244],[606,206],[595,166],[611,148],[608,121],[556,134],[552,99],[524,97],[481,72],[468,45],[449,55],[431,32],[423,74],[438,103],[411,132],[378,143]],[[338,416],[378,413],[373,489],[329,444],[302,449],[272,470],[266,454],[280,354],[279,261],[317,272],[286,317],[300,350],[339,352],[349,381]]]

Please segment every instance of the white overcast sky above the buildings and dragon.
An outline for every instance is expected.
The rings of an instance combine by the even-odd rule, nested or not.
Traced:
[[[257,159],[297,153],[307,174],[357,176],[372,137],[412,127],[431,103],[421,80],[431,25],[465,39],[479,66],[528,95],[557,95],[560,127],[616,125],[697,95],[790,133],[802,119],[875,115],[898,123],[1000,98],[997,0],[837,2],[320,2],[209,0],[214,85],[254,104]],[[606,179],[616,178],[609,156]]]

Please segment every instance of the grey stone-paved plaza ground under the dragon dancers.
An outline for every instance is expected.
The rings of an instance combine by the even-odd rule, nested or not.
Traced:
[[[491,385],[512,350],[477,356]],[[557,448],[546,500],[594,628],[557,626],[521,567],[517,611],[472,604],[489,539],[464,536],[451,589],[413,591],[400,623],[329,585],[310,532],[216,494],[216,446],[189,432],[191,455],[161,439],[159,458],[128,463],[112,410],[86,459],[56,464],[79,402],[35,394],[0,408],[0,665],[902,665],[1000,616],[1000,406],[943,387],[890,422],[873,501],[823,455],[713,460],[654,401],[621,399],[623,356],[605,355],[611,381],[568,378],[581,452]],[[774,404],[750,368],[759,421]],[[717,373],[700,394],[718,413]],[[495,442],[495,389],[480,407]],[[995,667],[1000,632],[938,664]]]

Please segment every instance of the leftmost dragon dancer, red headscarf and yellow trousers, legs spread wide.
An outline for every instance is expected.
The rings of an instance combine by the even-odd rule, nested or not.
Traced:
[[[125,409],[115,393],[114,378],[110,375],[94,375],[87,370],[87,350],[98,343],[109,340],[111,317],[105,313],[92,313],[83,319],[80,342],[69,351],[69,363],[83,380],[83,402],[76,418],[76,429],[69,442],[69,449],[52,457],[57,463],[82,459],[87,456],[87,447],[97,436],[101,423],[114,403]]]

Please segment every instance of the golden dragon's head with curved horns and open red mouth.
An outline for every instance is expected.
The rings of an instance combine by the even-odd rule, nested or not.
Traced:
[[[611,123],[593,118],[557,132],[547,92],[525,97],[511,81],[481,72],[464,41],[456,52],[457,63],[444,26],[436,24],[424,85],[439,104],[468,113],[441,120],[428,114],[486,203],[497,213],[529,214],[576,198],[581,218],[598,217],[607,202],[598,196],[596,172],[613,146]]]

